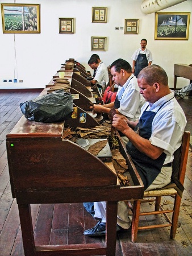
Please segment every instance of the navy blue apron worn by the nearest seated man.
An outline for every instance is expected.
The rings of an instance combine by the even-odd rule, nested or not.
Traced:
[[[165,105],[165,103],[160,106],[157,112],[162,108],[162,106]],[[152,122],[157,114],[157,112],[146,111],[147,108],[144,110],[139,119],[139,123],[134,129],[137,134],[145,139],[149,139],[151,137]],[[144,189],[147,189],[149,185],[151,185],[156,179],[157,175],[160,174],[161,168],[165,162],[166,154],[162,152],[157,159],[153,160],[149,158],[149,156],[137,150],[137,148],[133,146],[130,141],[126,144],[126,148],[133,160],[133,163],[135,164],[137,171],[139,172],[141,180],[143,181]]]

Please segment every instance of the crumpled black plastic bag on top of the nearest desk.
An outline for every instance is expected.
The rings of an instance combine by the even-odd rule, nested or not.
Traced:
[[[59,122],[70,117],[73,112],[73,98],[64,90],[39,96],[31,101],[20,103],[24,116],[35,122]]]

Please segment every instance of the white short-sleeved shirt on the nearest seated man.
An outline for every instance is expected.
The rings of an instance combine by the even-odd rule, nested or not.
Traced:
[[[157,112],[164,102],[166,102],[165,105]],[[149,103],[146,102],[141,108],[141,114],[148,105]],[[164,149],[166,154],[164,164],[170,163],[173,161],[174,151],[181,146],[182,135],[187,123],[185,114],[174,97],[173,91],[153,103],[146,111],[149,110],[157,112],[152,122],[152,134],[149,141],[152,145]]]

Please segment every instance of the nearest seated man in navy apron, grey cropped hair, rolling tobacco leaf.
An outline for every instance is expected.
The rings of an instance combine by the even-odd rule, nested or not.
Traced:
[[[142,69],[138,75],[140,93],[145,98],[138,121],[129,121],[115,114],[112,126],[126,135],[126,145],[144,184],[145,191],[162,188],[170,183],[174,151],[181,146],[186,117],[168,86],[168,77],[158,65]],[[134,129],[134,130],[133,130]],[[94,218],[99,222],[85,230],[89,236],[105,234],[106,202],[94,203]],[[131,225],[128,208],[118,202],[117,231]]]

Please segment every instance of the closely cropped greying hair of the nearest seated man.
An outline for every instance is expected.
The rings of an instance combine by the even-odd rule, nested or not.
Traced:
[[[155,82],[158,84],[168,85],[168,76],[163,68],[159,65],[149,65],[141,69],[137,79],[145,79],[148,85],[153,85]]]

